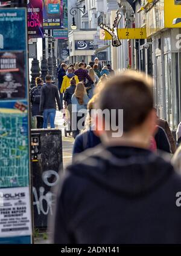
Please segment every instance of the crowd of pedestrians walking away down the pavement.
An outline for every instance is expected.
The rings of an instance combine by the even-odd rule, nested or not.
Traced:
[[[107,65],[107,69],[109,68],[110,64]],[[37,129],[47,128],[48,121],[51,128],[54,128],[56,102],[59,110],[63,109],[64,102],[64,109],[67,110],[68,130],[72,132],[72,136],[75,138],[80,130],[76,128],[75,131],[72,131],[72,113],[75,115],[75,110],[72,112],[72,99],[77,104],[78,110],[86,109],[88,99],[92,98],[99,79],[104,75],[104,73],[101,75],[101,70],[104,70],[104,67],[102,69],[98,58],[95,58],[94,62],[90,62],[89,65],[85,62],[69,65],[60,64],[57,68],[57,85],[54,85],[54,81],[49,75],[46,76],[45,83],[42,78],[37,77],[35,86],[30,91],[31,115],[36,118]],[[80,89],[75,90],[78,83],[83,84],[83,86],[79,84],[78,87],[84,88],[85,95],[83,98],[86,99],[85,102],[81,98],[77,98],[79,96],[75,96],[81,94]]]

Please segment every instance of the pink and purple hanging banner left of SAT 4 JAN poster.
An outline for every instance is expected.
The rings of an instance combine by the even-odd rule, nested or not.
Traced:
[[[43,38],[42,0],[28,0],[28,37]]]

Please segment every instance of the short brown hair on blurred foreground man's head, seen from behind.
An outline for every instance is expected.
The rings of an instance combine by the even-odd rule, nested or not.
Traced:
[[[142,126],[153,110],[153,95],[151,86],[153,80],[143,73],[133,71],[109,79],[104,84],[98,97],[96,108],[116,110],[118,124],[118,110],[123,110],[123,133],[131,132]]]

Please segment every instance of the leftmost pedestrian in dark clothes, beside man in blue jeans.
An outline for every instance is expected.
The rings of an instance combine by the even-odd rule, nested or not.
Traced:
[[[37,129],[43,128],[43,113],[40,112],[40,96],[43,86],[43,80],[39,77],[35,80],[36,86],[31,89],[30,101],[31,101],[31,113],[37,120]]]

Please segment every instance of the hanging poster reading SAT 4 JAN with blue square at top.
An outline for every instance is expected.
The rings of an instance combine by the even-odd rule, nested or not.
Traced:
[[[63,29],[63,0],[43,0],[44,29]]]

